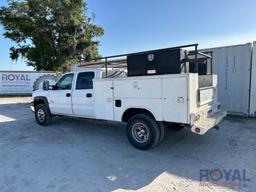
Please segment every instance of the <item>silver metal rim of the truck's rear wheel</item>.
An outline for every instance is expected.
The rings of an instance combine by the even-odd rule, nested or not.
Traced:
[[[138,143],[145,143],[149,138],[149,128],[144,123],[135,123],[132,126],[132,136]]]

